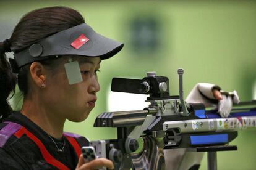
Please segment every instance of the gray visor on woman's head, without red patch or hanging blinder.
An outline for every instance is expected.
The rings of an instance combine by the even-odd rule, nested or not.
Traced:
[[[76,49],[71,44],[79,39],[81,35],[88,38],[88,41],[82,43],[82,46]],[[85,57],[100,57],[104,60],[117,54],[123,46],[123,43],[101,36],[86,23],[83,23],[48,36],[14,54],[14,58],[18,68],[27,63],[49,59],[55,55],[82,55]]]

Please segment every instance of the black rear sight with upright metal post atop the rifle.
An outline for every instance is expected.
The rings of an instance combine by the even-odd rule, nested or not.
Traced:
[[[176,110],[175,112],[181,116],[188,116],[189,112],[187,111],[183,98],[182,75],[184,70],[178,69],[177,73],[179,74],[179,96],[170,96],[168,77],[156,76],[156,72],[148,72],[147,77],[143,79],[113,78],[111,91],[149,94],[146,102],[151,102],[150,107],[160,107],[162,114],[164,110],[170,107],[166,105],[166,103],[170,103],[170,100],[174,100],[174,102],[171,102],[171,107]],[[177,100],[179,100],[179,102],[177,102]],[[161,104],[156,104],[158,102],[161,102]]]

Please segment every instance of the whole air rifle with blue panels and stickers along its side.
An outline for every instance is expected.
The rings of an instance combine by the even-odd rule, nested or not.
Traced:
[[[165,169],[163,149],[189,148],[208,152],[208,169],[216,169],[216,152],[237,150],[228,143],[237,130],[256,127],[256,102],[233,105],[231,115],[221,118],[212,105],[186,103],[179,69],[179,95],[169,95],[169,79],[148,72],[143,79],[113,78],[111,91],[148,94],[147,108],[101,113],[94,127],[117,128],[117,139],[90,142],[99,157],[113,161],[115,169]],[[137,139],[142,137],[143,149]]]

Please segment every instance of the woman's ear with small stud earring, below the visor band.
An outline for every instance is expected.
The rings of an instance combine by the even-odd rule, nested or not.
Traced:
[[[30,65],[30,75],[36,86],[45,88],[46,70],[40,62],[33,62]]]

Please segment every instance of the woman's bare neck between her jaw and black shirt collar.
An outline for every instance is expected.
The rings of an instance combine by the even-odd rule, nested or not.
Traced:
[[[61,138],[66,119],[61,118],[57,113],[52,113],[53,111],[47,109],[48,106],[35,100],[24,99],[20,112],[41,127],[47,134],[57,139]]]

